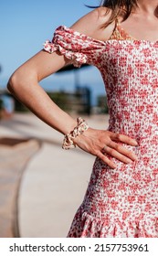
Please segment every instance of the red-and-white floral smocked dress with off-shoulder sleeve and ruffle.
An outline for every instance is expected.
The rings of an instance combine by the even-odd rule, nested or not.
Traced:
[[[158,41],[137,40],[117,25],[100,41],[60,26],[44,49],[100,69],[110,112],[107,130],[136,139],[138,160],[112,169],[96,158],[68,237],[158,237]],[[106,155],[106,154],[105,154]]]

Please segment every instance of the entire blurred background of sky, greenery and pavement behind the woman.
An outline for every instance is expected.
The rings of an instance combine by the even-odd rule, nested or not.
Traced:
[[[61,149],[63,136],[6,90],[10,75],[100,0],[0,2],[0,237],[66,237],[89,183],[95,157]],[[100,72],[70,66],[40,82],[74,118],[106,129],[109,113]]]

